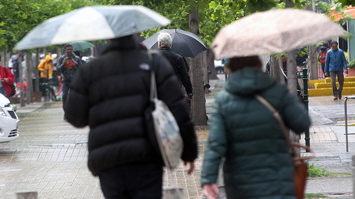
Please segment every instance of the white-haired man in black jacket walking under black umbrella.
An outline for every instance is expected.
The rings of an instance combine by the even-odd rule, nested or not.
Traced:
[[[164,57],[170,62],[170,64],[174,67],[175,73],[182,83],[183,87],[185,87],[186,98],[188,100],[192,99],[192,84],[190,80],[190,76],[188,75],[185,62],[183,57],[179,54],[176,54],[171,51],[172,39],[169,33],[161,32],[158,35],[158,46],[159,52],[161,52]]]

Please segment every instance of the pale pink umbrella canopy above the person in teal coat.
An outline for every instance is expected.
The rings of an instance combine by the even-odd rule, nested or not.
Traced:
[[[344,35],[344,29],[324,15],[293,8],[276,9],[242,17],[223,27],[211,49],[219,60],[282,53]]]

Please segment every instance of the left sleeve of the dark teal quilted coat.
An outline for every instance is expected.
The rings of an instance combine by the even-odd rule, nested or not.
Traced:
[[[208,135],[208,146],[204,153],[201,173],[201,186],[216,183],[221,157],[227,152],[228,142],[224,119],[221,113],[221,105],[216,102],[213,105]]]

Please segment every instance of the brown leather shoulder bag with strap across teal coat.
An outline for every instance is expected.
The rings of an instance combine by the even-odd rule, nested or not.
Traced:
[[[314,154],[310,150],[309,147],[302,146],[297,143],[291,143],[291,141],[288,138],[288,130],[287,130],[285,124],[283,123],[282,118],[281,118],[280,114],[278,113],[278,111],[275,108],[273,108],[273,106],[270,103],[268,103],[260,95],[255,95],[255,98],[272,112],[272,115],[275,117],[276,121],[281,126],[282,132],[286,138],[287,144],[291,150],[291,155],[293,157],[294,186],[295,186],[295,191],[296,191],[296,197],[297,197],[297,199],[303,199],[305,182],[306,182],[306,179],[308,176],[308,165],[304,161],[313,158]],[[297,157],[296,153],[294,151],[295,147],[306,149],[306,150],[310,151],[312,153],[312,155],[309,157]]]

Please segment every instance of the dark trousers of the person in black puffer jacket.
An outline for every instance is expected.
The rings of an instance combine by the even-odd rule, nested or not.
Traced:
[[[98,174],[105,199],[161,199],[162,167],[128,163]]]

